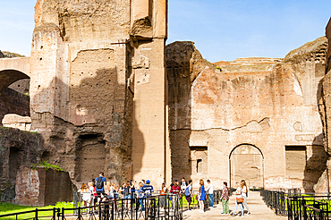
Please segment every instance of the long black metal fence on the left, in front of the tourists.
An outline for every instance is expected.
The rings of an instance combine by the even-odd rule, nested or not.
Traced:
[[[190,208],[199,208],[198,191],[192,191]],[[214,204],[218,204],[221,198],[222,190],[213,191]],[[14,217],[16,219],[53,219],[64,220],[68,217],[75,219],[160,219],[160,220],[177,220],[182,219],[182,212],[187,209],[187,201],[183,194],[168,194],[155,195],[152,197],[132,199],[106,199],[99,201],[98,205],[89,207],[81,207],[81,194],[73,194],[73,207],[72,208],[36,208],[26,212],[18,212],[7,215],[0,215],[3,217]],[[208,198],[204,202],[205,210],[209,208],[210,200]]]

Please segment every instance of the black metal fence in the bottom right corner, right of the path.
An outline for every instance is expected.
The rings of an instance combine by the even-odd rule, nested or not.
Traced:
[[[262,189],[260,194],[276,215],[288,216],[290,220],[331,219],[331,201],[327,193],[302,194],[300,189]]]

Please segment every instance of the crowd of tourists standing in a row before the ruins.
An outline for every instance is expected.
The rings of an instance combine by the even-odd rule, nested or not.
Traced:
[[[81,189],[78,192],[82,195],[83,206],[90,207],[95,206],[102,202],[107,202],[110,200],[117,199],[125,199],[125,208],[131,207],[130,199],[139,199],[139,204],[136,208],[139,208],[140,211],[144,211],[144,202],[143,199],[150,198],[152,196],[159,196],[159,207],[164,209],[166,206],[166,196],[171,195],[168,199],[172,199],[172,208],[178,207],[180,204],[180,199],[182,196],[185,197],[187,201],[187,210],[191,211],[191,201],[192,198],[198,200],[200,213],[205,212],[205,205],[208,204],[209,208],[214,207],[214,188],[213,184],[210,180],[207,180],[207,185],[205,186],[205,182],[203,180],[199,180],[199,190],[194,193],[192,190],[192,181],[185,181],[185,178],[182,178],[181,182],[175,180],[170,186],[166,186],[165,182],[163,182],[160,186],[160,189],[154,190],[154,187],[150,184],[149,180],[141,180],[140,182],[136,181],[127,181],[123,182],[123,185],[117,187],[115,182],[110,184],[110,182],[106,182],[106,177],[104,177],[104,173],[101,172],[99,176],[91,182],[89,182],[89,186],[85,183],[81,184]],[[230,199],[230,190],[228,188],[227,182],[223,182],[222,196],[220,200],[222,201],[223,212],[221,215],[232,215],[232,216],[243,216],[243,206],[247,209],[247,215],[250,215],[250,208],[247,205],[247,197],[248,197],[248,187],[246,182],[242,180],[242,182],[236,182],[236,190],[233,192],[233,195],[236,197],[234,209],[230,213],[229,211],[229,199]],[[206,201],[209,201],[207,203]],[[146,205],[146,204],[145,204]],[[241,212],[237,213],[237,208],[241,208]],[[115,204],[115,208],[117,205]]]

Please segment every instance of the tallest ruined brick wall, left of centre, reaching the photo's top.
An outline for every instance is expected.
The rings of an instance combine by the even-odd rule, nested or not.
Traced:
[[[101,171],[112,182],[165,181],[165,161],[150,158],[165,158],[166,7],[38,0],[31,129],[46,140],[43,157],[75,182]]]

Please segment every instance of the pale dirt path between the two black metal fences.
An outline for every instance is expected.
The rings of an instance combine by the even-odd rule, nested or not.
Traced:
[[[230,212],[234,208],[234,197],[230,198],[229,206],[230,206]],[[286,216],[276,216],[273,210],[271,210],[269,207],[267,207],[262,200],[262,198],[259,196],[259,192],[252,192],[250,191],[249,198],[247,200],[247,203],[250,207],[250,213],[251,215],[246,215],[247,211],[245,210],[245,215],[240,216],[230,216],[230,215],[221,215],[222,213],[222,204],[214,205],[214,208],[210,208],[205,213],[199,213],[197,210],[192,211],[185,211],[183,213],[183,219],[187,220],[194,220],[194,219],[267,219],[267,220],[273,220],[273,219],[287,219]],[[237,211],[240,211],[240,207],[238,207]]]

